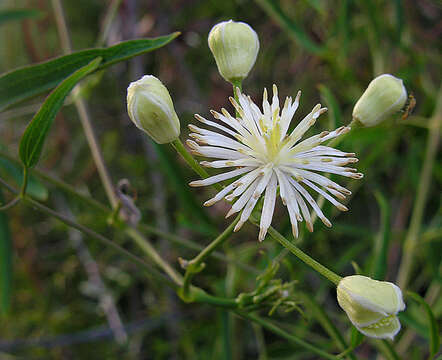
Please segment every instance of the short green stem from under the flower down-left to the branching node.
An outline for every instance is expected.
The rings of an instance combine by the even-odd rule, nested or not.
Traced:
[[[184,297],[189,295],[190,284],[195,274],[199,273],[204,268],[204,260],[215,251],[215,249],[222,245],[232,234],[235,225],[238,223],[240,215],[209,245],[207,245],[195,258],[185,263],[186,273],[184,274],[182,295]]]

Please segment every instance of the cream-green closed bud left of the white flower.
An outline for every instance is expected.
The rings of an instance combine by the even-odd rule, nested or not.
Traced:
[[[180,135],[180,120],[169,91],[155,76],[145,75],[127,88],[130,119],[156,143],[165,144]]]

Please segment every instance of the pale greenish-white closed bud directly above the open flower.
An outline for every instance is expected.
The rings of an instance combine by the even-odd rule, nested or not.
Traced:
[[[208,42],[224,79],[234,82],[247,77],[259,50],[258,35],[248,24],[232,20],[216,24]]]

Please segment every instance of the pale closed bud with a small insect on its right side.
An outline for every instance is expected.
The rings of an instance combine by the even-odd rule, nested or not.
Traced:
[[[402,109],[407,90],[401,79],[383,74],[373,79],[353,109],[353,119],[363,126],[375,126]]]

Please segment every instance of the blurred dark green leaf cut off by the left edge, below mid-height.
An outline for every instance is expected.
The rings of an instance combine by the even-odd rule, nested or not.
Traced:
[[[4,203],[0,189],[0,203]],[[5,314],[11,304],[12,288],[12,240],[9,231],[8,216],[0,212],[0,314]]]

